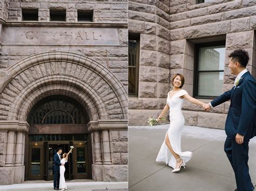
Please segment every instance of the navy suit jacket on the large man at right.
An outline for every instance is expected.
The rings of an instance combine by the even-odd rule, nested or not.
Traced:
[[[256,81],[250,72],[241,76],[236,87],[211,101],[212,107],[231,100],[225,131],[230,138],[237,133],[251,139],[256,136]]]

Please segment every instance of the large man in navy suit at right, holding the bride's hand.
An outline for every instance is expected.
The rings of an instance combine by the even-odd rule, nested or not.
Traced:
[[[235,190],[253,190],[255,186],[252,184],[247,163],[248,143],[256,136],[256,81],[246,70],[249,61],[246,51],[238,49],[228,57],[231,74],[237,76],[234,86],[203,107],[208,110],[231,100],[225,124],[227,138],[224,151],[234,170],[237,182]]]

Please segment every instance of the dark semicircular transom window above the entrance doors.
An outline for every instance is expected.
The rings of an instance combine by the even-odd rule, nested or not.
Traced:
[[[86,111],[68,96],[49,96],[39,101],[30,111],[30,124],[85,124]]]

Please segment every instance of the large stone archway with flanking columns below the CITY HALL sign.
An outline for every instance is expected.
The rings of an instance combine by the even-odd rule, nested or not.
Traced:
[[[113,180],[105,177],[112,168],[127,171],[126,164],[113,164],[110,149],[111,131],[127,129],[127,92],[110,70],[76,53],[45,52],[15,63],[7,72],[0,89],[0,131],[4,140],[0,168],[8,178],[1,179],[1,184],[24,180],[24,140],[29,129],[26,118],[35,103],[50,95],[70,96],[86,109],[92,137],[93,179],[127,179],[120,174]]]

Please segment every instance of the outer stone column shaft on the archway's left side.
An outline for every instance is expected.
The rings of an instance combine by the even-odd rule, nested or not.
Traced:
[[[5,166],[14,166],[15,132],[9,131],[7,138]]]

